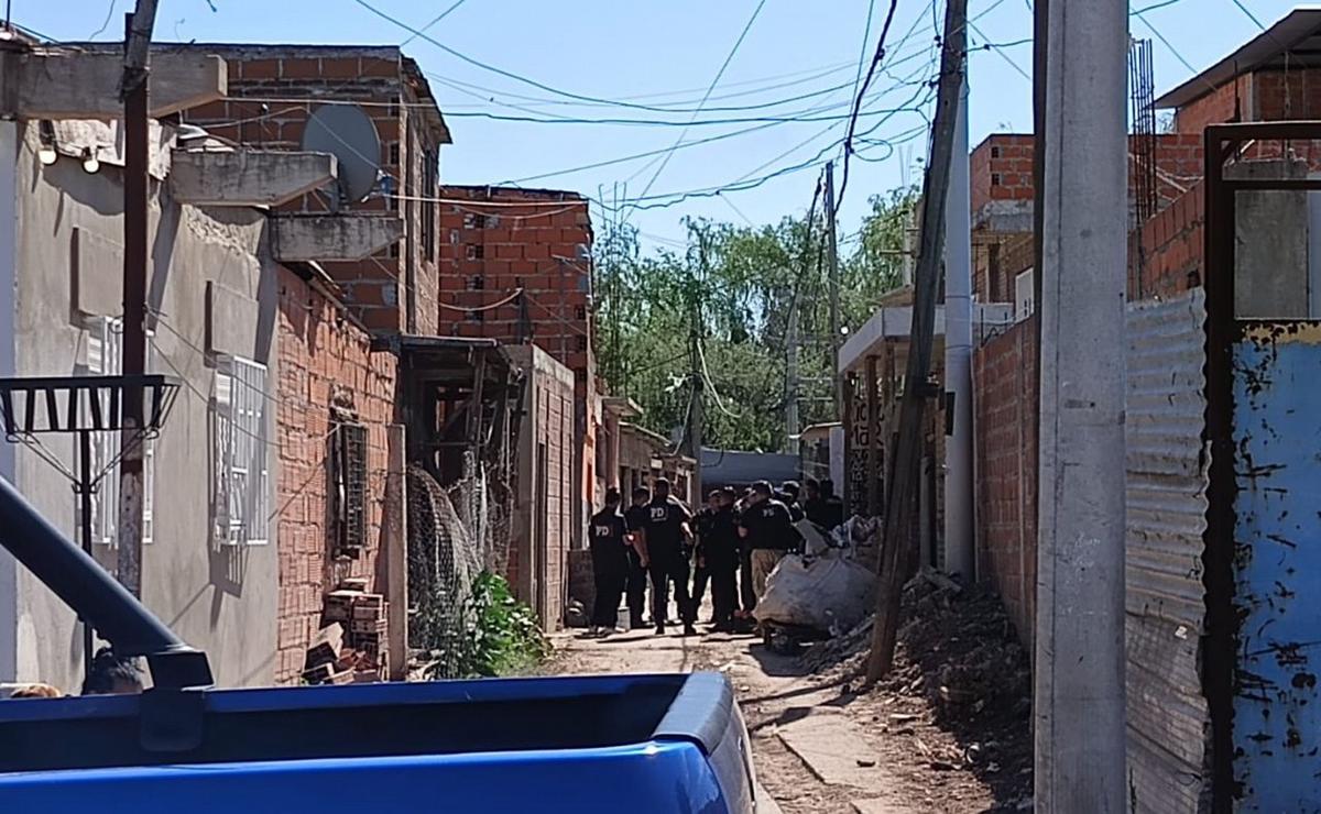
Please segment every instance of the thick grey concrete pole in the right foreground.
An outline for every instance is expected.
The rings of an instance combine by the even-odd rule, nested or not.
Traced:
[[[1033,703],[1042,813],[1127,805],[1127,12],[1050,4]]]

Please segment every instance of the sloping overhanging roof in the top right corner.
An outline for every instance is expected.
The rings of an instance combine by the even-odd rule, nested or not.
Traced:
[[[1159,98],[1156,107],[1184,107],[1243,74],[1262,69],[1283,69],[1285,65],[1321,67],[1318,29],[1321,29],[1321,7],[1299,7],[1230,55]]]

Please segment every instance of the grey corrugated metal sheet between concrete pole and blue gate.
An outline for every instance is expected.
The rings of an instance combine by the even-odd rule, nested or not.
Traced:
[[[1206,785],[1205,321],[1201,289],[1128,306],[1124,559],[1135,811],[1198,811]]]

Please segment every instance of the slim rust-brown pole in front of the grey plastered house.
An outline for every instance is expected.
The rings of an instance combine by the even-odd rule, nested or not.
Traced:
[[[124,33],[124,376],[147,372],[148,57],[156,0],[137,0]],[[119,582],[133,596],[143,584],[143,412],[141,387],[124,391],[123,458],[119,462]]]

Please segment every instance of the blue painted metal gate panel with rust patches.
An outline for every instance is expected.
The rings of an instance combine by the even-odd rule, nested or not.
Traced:
[[[1243,322],[1239,330],[1232,347],[1238,810],[1316,811],[1321,323]]]

